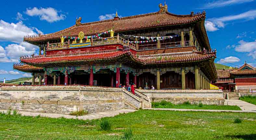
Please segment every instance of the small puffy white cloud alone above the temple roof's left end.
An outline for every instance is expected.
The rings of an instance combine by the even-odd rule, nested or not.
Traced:
[[[46,20],[48,22],[55,22],[59,20],[64,20],[66,18],[65,15],[58,15],[58,11],[52,7],[48,8],[27,8],[26,14],[29,16],[39,16],[40,20]]]

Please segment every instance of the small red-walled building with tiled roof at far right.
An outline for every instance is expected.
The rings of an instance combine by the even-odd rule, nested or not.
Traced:
[[[217,70],[218,79],[215,83],[222,90],[255,90],[256,68],[246,62],[239,69]]]

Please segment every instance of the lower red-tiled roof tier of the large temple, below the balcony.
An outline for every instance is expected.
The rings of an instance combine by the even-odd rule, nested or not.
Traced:
[[[181,63],[181,62],[196,62],[215,58],[216,53],[201,53],[201,52],[188,52],[183,54],[170,53],[170,54],[159,54],[149,56],[137,56],[136,54],[128,51],[114,51],[104,52],[86,55],[66,55],[66,56],[39,56],[31,58],[20,58],[23,63],[31,65],[41,64],[53,64],[53,63],[65,63],[65,62],[94,62],[94,61],[105,61],[120,58],[123,56],[129,56],[135,62],[143,65],[147,64],[159,64],[159,63]]]

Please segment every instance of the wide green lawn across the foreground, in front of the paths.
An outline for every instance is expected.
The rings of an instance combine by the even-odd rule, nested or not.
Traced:
[[[235,118],[241,123],[234,123]],[[102,131],[99,120],[24,117],[0,114],[0,139],[122,139],[131,128],[134,140],[246,139],[256,137],[256,113],[138,110],[108,118],[112,130]]]

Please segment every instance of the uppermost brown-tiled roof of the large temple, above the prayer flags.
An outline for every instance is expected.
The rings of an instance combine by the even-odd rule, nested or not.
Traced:
[[[85,35],[95,35],[101,32],[113,29],[116,33],[122,31],[139,30],[145,28],[154,28],[159,26],[173,26],[190,24],[206,17],[205,12],[196,15],[175,15],[169,12],[165,13],[149,13],[137,16],[119,18],[118,20],[109,19],[103,21],[83,23],[80,26],[71,26],[59,32],[40,35],[39,37],[25,37],[24,41],[38,42],[48,39],[57,39],[63,36],[78,36],[79,32],[83,31]]]

